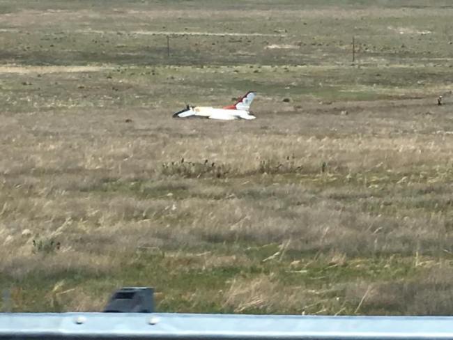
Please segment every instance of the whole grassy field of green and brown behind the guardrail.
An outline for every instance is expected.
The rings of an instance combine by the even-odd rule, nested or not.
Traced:
[[[0,0],[13,310],[451,314],[450,2]]]

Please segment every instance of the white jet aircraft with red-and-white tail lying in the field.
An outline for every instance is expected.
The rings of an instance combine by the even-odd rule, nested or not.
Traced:
[[[190,117],[201,117],[210,119],[220,119],[222,121],[232,121],[233,119],[255,119],[256,117],[250,114],[250,105],[256,96],[256,92],[249,91],[234,105],[227,107],[215,108],[215,107],[193,107],[187,105],[187,107],[181,111],[173,114],[174,118],[190,118]]]

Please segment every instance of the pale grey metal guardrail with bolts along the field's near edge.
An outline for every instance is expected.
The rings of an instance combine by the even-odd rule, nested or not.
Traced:
[[[0,339],[453,340],[453,317],[6,313]]]

